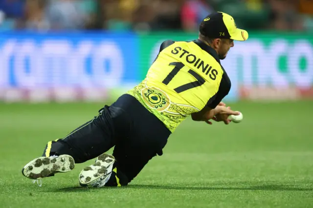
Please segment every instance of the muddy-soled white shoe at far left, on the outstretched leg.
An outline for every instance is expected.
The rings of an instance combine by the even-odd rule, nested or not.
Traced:
[[[68,172],[75,167],[75,162],[70,155],[53,155],[50,157],[39,157],[22,169],[22,174],[30,179],[42,179],[59,172]]]

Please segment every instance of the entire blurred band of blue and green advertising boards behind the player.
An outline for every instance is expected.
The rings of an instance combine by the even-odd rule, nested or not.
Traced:
[[[186,33],[0,33],[0,100],[104,101],[144,79],[164,40]],[[222,61],[227,101],[313,98],[313,37],[250,33]]]

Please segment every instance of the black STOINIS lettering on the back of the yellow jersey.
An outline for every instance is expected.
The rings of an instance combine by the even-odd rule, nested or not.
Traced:
[[[194,63],[194,66],[198,69],[200,69],[201,67],[202,72],[205,73],[205,75],[208,75],[212,80],[216,80],[218,71],[216,69],[212,69],[212,66],[210,66],[209,64],[205,64],[200,58],[197,58],[194,54],[189,53],[189,51],[182,49],[179,46],[175,47],[171,52],[172,54],[180,55],[179,58],[185,58],[186,62],[188,63]]]

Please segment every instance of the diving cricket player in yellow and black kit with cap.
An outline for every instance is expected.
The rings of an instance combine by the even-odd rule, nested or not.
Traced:
[[[149,160],[162,155],[168,137],[189,115],[209,124],[211,119],[228,124],[229,115],[239,115],[221,102],[231,83],[220,60],[234,40],[247,39],[230,15],[216,12],[201,22],[199,39],[163,42],[141,83],[65,138],[48,142],[22,174],[42,179],[96,158],[80,172],[81,186],[128,185]]]

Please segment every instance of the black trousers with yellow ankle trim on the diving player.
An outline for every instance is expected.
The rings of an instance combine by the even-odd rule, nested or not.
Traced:
[[[114,146],[116,161],[106,186],[125,186],[149,160],[162,155],[170,134],[155,115],[133,96],[124,94],[64,139],[48,142],[43,156],[67,154],[75,163],[84,163]]]

